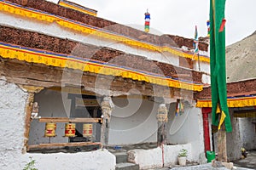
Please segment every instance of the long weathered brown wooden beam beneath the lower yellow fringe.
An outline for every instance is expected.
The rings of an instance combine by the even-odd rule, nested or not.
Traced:
[[[142,83],[123,77],[105,76],[73,69],[65,69],[64,71],[62,68],[26,63],[17,59],[3,59],[3,62],[0,62],[0,75],[6,77],[8,82],[15,82],[25,86],[40,84],[41,87],[52,88],[61,87],[63,84],[70,84],[83,86],[84,90],[93,93],[97,93],[97,90],[99,90],[99,87],[96,87],[95,83],[100,77],[104,82],[110,83],[110,86],[101,86],[100,90],[102,92],[110,90],[113,96],[131,94],[131,88],[136,88],[145,96],[156,96],[167,99],[173,98],[173,95],[176,94],[179,96],[179,92],[181,91],[179,88],[169,88],[148,82]],[[185,91],[191,93],[191,91],[185,89],[182,89],[182,91],[183,93]]]

